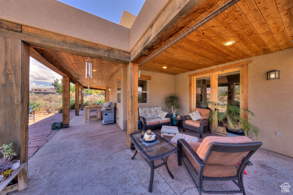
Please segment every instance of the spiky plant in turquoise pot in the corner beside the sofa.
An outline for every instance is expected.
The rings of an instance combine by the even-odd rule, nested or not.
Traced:
[[[168,94],[166,96],[165,104],[166,104],[167,108],[169,108],[169,110],[172,111],[172,113],[173,113],[172,118],[177,117],[176,111],[178,111],[178,114],[180,114],[183,109],[183,106],[180,104],[179,94],[173,94],[173,93]],[[173,125],[176,124],[174,119],[172,120],[172,124]]]

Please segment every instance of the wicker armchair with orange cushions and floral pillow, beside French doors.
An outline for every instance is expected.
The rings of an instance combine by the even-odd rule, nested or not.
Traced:
[[[185,132],[185,129],[190,129],[193,131],[197,131],[200,133],[200,138],[202,138],[202,133],[209,131],[209,133],[211,133],[210,130],[210,122],[207,120],[207,113],[210,112],[209,109],[202,109],[202,108],[195,108],[194,111],[198,110],[199,113],[202,115],[202,119],[197,120],[197,121],[192,121],[189,120],[191,119],[189,115],[184,116],[183,117],[183,121],[182,121],[182,126],[183,126],[183,132]],[[186,124],[186,122],[188,122],[188,124]],[[205,131],[203,131],[205,130]]]

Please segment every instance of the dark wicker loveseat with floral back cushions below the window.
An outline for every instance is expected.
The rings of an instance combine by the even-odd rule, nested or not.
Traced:
[[[142,129],[144,131],[156,129],[163,125],[172,126],[170,114],[166,114],[165,118],[157,116],[161,110],[161,106],[138,108],[138,120],[142,122]]]

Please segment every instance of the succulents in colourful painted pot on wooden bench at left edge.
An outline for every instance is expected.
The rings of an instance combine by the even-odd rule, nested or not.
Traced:
[[[12,143],[8,145],[3,144],[0,147],[0,151],[3,154],[3,157],[0,159],[0,182],[11,176],[11,167],[13,165],[11,159],[13,156],[16,156],[12,147]]]

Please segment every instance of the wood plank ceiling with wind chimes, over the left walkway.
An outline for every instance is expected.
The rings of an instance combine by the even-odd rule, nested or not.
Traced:
[[[55,58],[66,70],[71,73],[83,86],[97,87],[105,89],[110,79],[117,73],[124,65],[115,62],[109,62],[96,58],[90,58],[92,61],[92,78],[86,79],[86,65],[87,57],[78,56],[74,54],[63,53],[59,51],[47,50],[47,52]]]

